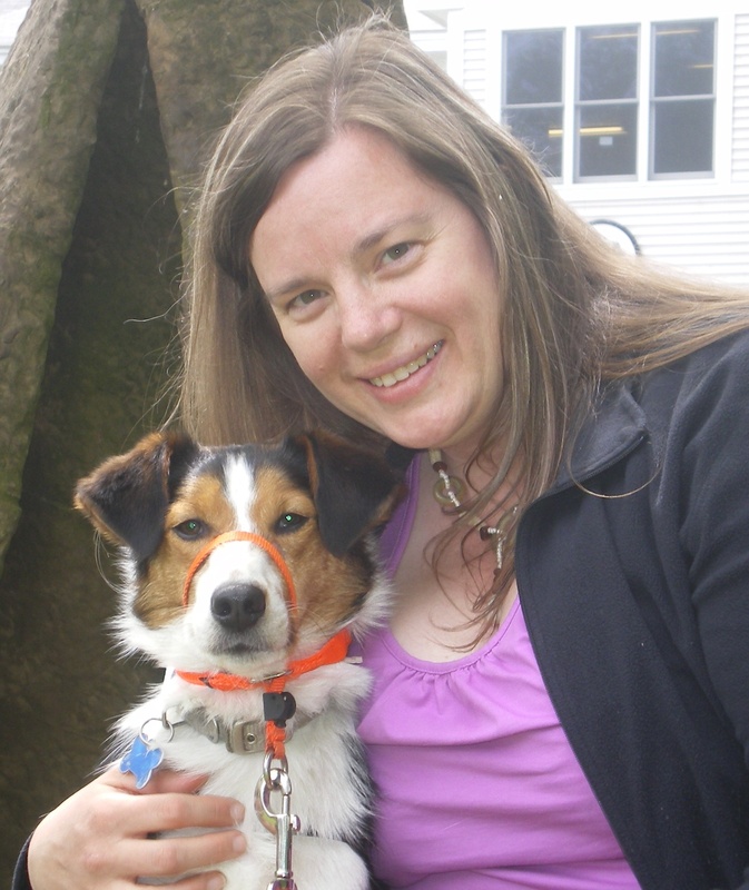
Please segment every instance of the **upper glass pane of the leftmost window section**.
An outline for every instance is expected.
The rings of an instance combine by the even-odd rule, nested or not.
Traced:
[[[506,105],[562,101],[562,31],[505,34]]]

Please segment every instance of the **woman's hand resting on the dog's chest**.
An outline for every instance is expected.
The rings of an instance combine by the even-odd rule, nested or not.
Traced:
[[[161,770],[142,791],[131,775],[108,770],[47,815],[29,846],[33,890],[125,890],[139,876],[175,877],[210,869],[245,850],[236,830],[244,808],[229,798],[199,797],[205,779]],[[171,829],[205,828],[206,834],[156,838]],[[221,830],[223,829],[223,830]],[[219,890],[224,878],[203,871],[178,890]]]

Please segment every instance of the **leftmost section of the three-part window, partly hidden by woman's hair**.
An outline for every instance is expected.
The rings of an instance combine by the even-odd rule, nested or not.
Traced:
[[[562,30],[504,36],[503,119],[552,177],[562,175],[563,39]]]

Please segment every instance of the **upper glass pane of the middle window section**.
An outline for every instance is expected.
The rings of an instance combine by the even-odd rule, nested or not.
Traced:
[[[637,26],[580,29],[581,101],[635,99],[637,73]]]

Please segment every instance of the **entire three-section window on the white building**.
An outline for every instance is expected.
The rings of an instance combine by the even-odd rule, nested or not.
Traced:
[[[502,119],[556,179],[711,176],[714,43],[712,20],[506,31]]]

